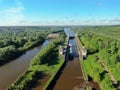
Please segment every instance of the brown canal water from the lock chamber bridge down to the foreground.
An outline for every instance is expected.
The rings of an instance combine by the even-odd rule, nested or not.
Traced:
[[[70,39],[72,44],[74,59],[68,60],[66,67],[56,82],[54,90],[86,90],[80,62],[76,52],[75,39]]]

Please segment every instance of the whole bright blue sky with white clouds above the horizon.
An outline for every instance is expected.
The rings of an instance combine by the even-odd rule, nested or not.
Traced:
[[[120,0],[0,0],[0,26],[119,24]]]

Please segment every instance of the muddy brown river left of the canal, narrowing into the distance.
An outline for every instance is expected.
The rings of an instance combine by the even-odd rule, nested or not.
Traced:
[[[30,60],[42,49],[49,41],[45,41],[42,46],[38,46],[28,50],[19,58],[0,67],[0,90],[5,90],[19,75],[21,75],[28,67]]]

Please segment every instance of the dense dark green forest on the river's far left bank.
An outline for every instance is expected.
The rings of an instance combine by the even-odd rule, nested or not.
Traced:
[[[57,32],[50,27],[0,27],[0,65],[3,65],[26,50],[40,45],[47,35]]]

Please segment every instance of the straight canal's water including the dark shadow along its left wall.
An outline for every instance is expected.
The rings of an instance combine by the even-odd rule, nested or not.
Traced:
[[[72,36],[68,41],[68,45],[72,45],[73,59],[66,59],[66,63],[56,74],[55,78],[50,83],[47,90],[87,90],[86,82],[84,80],[78,52],[75,42],[75,33],[69,29],[64,29],[67,36]],[[68,56],[68,51],[66,56]]]

